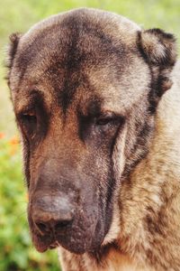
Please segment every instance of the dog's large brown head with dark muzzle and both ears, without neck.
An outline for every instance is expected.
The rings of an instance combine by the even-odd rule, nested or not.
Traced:
[[[33,243],[94,251],[111,228],[122,177],[148,152],[157,102],[171,85],[174,39],[80,9],[11,41]]]

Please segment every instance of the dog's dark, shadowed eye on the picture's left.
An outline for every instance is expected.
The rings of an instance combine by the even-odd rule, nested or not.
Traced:
[[[23,113],[20,117],[23,132],[29,137],[35,135],[37,128],[37,117],[34,113]]]

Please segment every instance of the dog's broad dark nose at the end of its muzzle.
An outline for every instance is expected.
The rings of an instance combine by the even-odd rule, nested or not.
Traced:
[[[72,223],[74,209],[67,196],[43,196],[32,205],[32,220],[41,234],[57,233]]]

